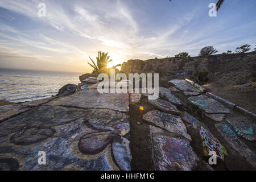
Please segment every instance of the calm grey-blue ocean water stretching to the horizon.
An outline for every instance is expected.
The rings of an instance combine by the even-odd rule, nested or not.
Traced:
[[[66,84],[79,84],[82,73],[0,68],[0,100],[26,102],[51,97]]]

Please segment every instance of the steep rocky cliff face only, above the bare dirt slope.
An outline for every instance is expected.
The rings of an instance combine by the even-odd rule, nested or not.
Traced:
[[[165,59],[129,60],[121,71],[128,73],[159,73],[160,77],[192,78],[195,71],[208,71],[209,82],[245,84],[256,81],[256,53],[212,55],[208,57],[171,57]]]

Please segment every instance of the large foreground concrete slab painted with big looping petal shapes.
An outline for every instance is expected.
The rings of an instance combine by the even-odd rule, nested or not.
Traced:
[[[129,130],[129,115],[119,111],[34,107],[0,123],[0,169],[130,170]]]

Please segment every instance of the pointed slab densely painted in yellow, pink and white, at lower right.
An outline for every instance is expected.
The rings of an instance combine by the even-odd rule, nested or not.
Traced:
[[[200,135],[203,140],[204,155],[208,156],[210,151],[215,151],[218,158],[224,160],[224,156],[228,155],[226,148],[203,126],[200,129]]]

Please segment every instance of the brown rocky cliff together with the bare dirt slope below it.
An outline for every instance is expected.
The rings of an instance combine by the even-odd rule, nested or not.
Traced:
[[[204,86],[214,94],[240,103],[256,113],[256,52],[241,54],[211,55],[207,57],[171,57],[165,59],[129,60],[123,63],[121,72],[159,73],[159,85],[169,86],[168,80],[189,78],[195,80],[196,71],[208,71]],[[237,89],[236,85],[250,84]]]

